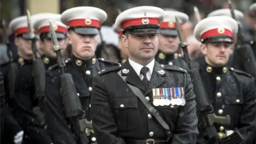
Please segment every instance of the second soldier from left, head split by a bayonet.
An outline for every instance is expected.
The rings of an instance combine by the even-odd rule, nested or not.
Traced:
[[[40,37],[39,45],[40,47],[42,47],[41,50],[44,54],[42,59],[45,63],[45,68],[51,69],[51,66],[57,65],[57,59],[56,59],[56,53],[53,51],[51,34],[49,33],[50,31],[49,20],[51,19],[51,21],[54,23],[58,43],[59,43],[59,46],[62,48],[61,50],[62,53],[65,53],[66,47],[67,47],[66,37],[67,37],[68,27],[60,21],[61,14],[54,14],[54,13],[42,13],[42,14],[44,14],[45,17],[47,17],[47,15],[50,14],[51,17],[49,16],[49,18],[47,19],[45,19],[44,17],[38,18],[37,21],[35,21],[34,29],[37,30],[39,33],[39,37]]]

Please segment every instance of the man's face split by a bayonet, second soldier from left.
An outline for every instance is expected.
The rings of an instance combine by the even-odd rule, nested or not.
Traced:
[[[57,57],[57,55],[56,55],[56,53],[53,49],[53,44],[52,44],[51,39],[44,38],[43,41],[40,40],[40,43],[42,45],[41,47],[43,47],[44,54],[47,57],[50,57],[50,58],[56,58]],[[66,47],[67,47],[66,39],[58,39],[58,44],[61,48],[61,53],[62,53],[62,51],[66,50]]]

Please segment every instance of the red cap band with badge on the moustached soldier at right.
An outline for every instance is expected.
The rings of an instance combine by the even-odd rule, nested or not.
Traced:
[[[201,39],[205,39],[211,36],[229,36],[229,37],[233,37],[233,33],[231,30],[226,29],[226,28],[215,28],[215,29],[211,29],[211,30],[207,30],[205,31],[202,35],[201,35]]]

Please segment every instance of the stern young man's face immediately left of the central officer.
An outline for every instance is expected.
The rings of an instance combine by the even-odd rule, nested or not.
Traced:
[[[72,53],[80,59],[90,59],[93,57],[99,35],[79,35],[74,31],[69,31],[68,43],[72,45]]]

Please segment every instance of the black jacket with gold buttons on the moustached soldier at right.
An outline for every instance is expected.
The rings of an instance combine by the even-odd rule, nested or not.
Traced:
[[[234,68],[211,67],[203,58],[199,63],[199,73],[214,113],[217,116],[229,115],[231,118],[230,125],[215,124],[217,132],[238,130],[244,138],[242,143],[252,143],[256,116],[254,78]]]

